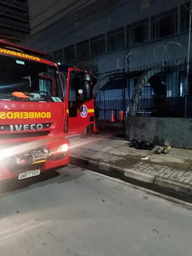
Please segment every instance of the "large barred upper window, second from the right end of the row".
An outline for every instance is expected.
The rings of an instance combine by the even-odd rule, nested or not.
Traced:
[[[177,33],[178,8],[159,13],[151,18],[151,39],[168,37]]]

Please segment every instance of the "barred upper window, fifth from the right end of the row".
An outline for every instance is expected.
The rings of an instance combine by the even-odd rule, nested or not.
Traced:
[[[105,34],[90,39],[91,56],[94,57],[106,52],[106,38]]]

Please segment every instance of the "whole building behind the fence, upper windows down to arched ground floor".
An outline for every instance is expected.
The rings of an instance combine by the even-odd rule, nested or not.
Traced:
[[[191,118],[189,9],[186,0],[98,0],[23,44],[94,73],[101,120],[127,109]]]

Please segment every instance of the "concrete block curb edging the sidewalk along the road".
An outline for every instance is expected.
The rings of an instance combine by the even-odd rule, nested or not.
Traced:
[[[120,175],[122,178],[129,178],[134,181],[153,184],[158,188],[163,190],[171,190],[183,195],[192,196],[192,186],[184,183],[179,183],[170,179],[160,178],[158,176],[143,173],[140,171],[135,171],[132,169],[122,168],[116,165],[108,164],[105,162],[97,162],[94,160],[88,160],[86,158],[78,158],[70,156],[70,163],[76,165],[84,165],[92,168],[98,168],[100,170],[106,171],[110,174]],[[99,171],[98,171],[99,172]]]

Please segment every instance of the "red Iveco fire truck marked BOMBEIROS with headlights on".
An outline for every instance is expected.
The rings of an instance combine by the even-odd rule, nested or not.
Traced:
[[[69,117],[77,102],[93,98],[92,76],[76,71],[76,102],[69,101],[69,86],[64,96],[58,66],[45,56],[0,40],[0,180],[68,165]],[[81,108],[82,119],[86,111]]]

